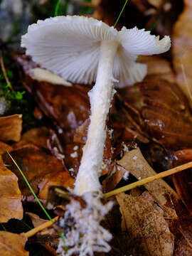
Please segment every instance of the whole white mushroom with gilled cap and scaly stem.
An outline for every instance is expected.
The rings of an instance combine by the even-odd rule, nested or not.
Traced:
[[[169,36],[159,40],[149,31],[122,28],[117,31],[102,21],[84,16],[58,16],[28,27],[21,46],[36,63],[71,82],[92,83],[91,116],[87,142],[75,183],[75,193],[100,190],[100,170],[105,144],[105,122],[114,95],[113,85],[140,82],[146,65],[138,55],[169,50]]]

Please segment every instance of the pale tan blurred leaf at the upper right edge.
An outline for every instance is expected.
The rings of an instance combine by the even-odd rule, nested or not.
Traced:
[[[184,0],[182,14],[174,24],[172,36],[173,63],[176,79],[186,95],[191,100],[192,93],[192,4],[191,0]],[[186,77],[185,77],[186,75]],[[187,80],[187,81],[186,81]]]

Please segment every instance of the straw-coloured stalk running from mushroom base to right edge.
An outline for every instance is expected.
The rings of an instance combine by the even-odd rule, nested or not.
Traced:
[[[182,164],[181,166],[177,166],[177,167],[175,167],[173,169],[170,169],[168,171],[163,171],[160,174],[156,174],[154,176],[143,178],[141,181],[136,181],[136,182],[131,183],[131,184],[127,185],[127,186],[123,186],[122,188],[117,188],[114,191],[107,192],[107,193],[105,193],[105,197],[109,198],[110,196],[115,196],[118,193],[123,193],[125,191],[129,191],[130,189],[136,188],[137,186],[142,186],[142,185],[144,185],[146,183],[149,183],[151,181],[155,181],[155,180],[157,180],[159,178],[164,178],[166,176],[169,176],[169,175],[172,175],[172,174],[176,174],[179,171],[183,171],[183,170],[186,170],[186,169],[191,168],[191,167],[192,167],[192,161],[187,163],[187,164]]]

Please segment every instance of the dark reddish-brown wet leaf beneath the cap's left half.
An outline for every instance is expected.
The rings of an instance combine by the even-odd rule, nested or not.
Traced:
[[[87,96],[90,87],[63,87],[48,82],[37,82],[30,73],[36,64],[26,55],[17,55],[15,58],[23,68],[23,85],[35,97],[39,109],[55,122],[63,142],[71,142],[75,129],[90,115],[90,102]]]

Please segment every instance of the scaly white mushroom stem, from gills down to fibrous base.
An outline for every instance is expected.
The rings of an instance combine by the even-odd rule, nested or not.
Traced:
[[[105,123],[114,95],[112,71],[117,47],[117,41],[102,41],[100,46],[97,79],[95,86],[89,92],[90,126],[75,182],[75,193],[78,195],[89,191],[100,191],[99,176],[105,146]]]

